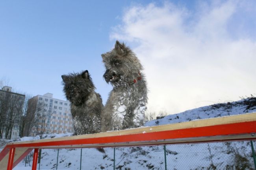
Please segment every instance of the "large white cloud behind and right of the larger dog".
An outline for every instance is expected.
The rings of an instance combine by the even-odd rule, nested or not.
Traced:
[[[141,60],[151,111],[173,114],[256,93],[256,40],[234,38],[228,29],[243,7],[250,11],[247,2],[252,3],[199,3],[197,10],[165,3],[126,10],[111,38],[125,41]]]

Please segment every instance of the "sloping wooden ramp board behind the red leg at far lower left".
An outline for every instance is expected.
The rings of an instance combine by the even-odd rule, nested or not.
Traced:
[[[22,154],[24,154],[27,150],[28,150],[28,148],[16,148],[13,162],[14,163],[17,162],[17,160],[20,158],[20,156],[22,156]],[[2,154],[2,152],[0,154]],[[0,161],[0,170],[6,170],[7,163],[8,163],[8,157],[9,157],[9,153],[6,154],[5,157]],[[13,164],[13,167],[15,165],[17,165],[17,164]]]

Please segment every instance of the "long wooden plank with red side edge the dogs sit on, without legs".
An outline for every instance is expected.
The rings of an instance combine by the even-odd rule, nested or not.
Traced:
[[[200,119],[190,122],[167,124],[95,133],[71,137],[42,139],[7,144],[7,148],[72,148],[134,146],[145,144],[166,144],[206,141],[229,141],[255,139],[256,113]],[[246,135],[246,136],[244,136]]]

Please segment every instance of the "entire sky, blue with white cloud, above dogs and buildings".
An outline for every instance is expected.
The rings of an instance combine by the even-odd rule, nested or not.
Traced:
[[[255,9],[254,0],[0,1],[0,80],[65,99],[61,75],[87,69],[105,103],[100,55],[118,39],[145,68],[149,111],[239,100],[256,93]]]

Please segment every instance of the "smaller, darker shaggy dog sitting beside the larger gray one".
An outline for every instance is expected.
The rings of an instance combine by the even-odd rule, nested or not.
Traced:
[[[62,75],[63,91],[71,102],[71,114],[76,135],[97,133],[101,130],[102,99],[87,70]]]

